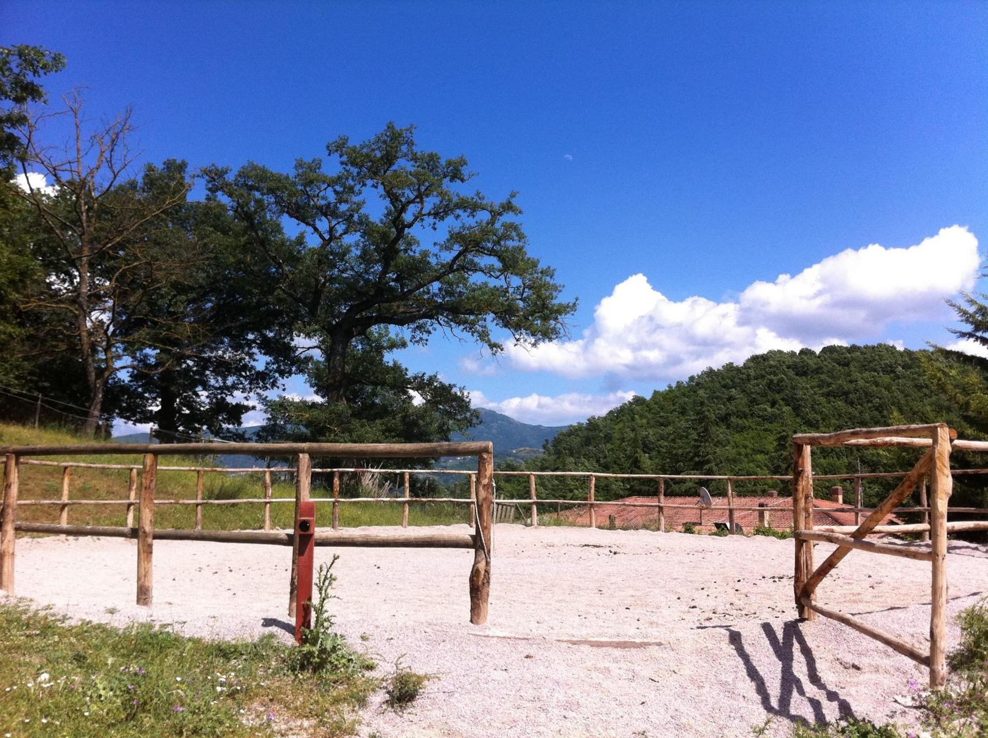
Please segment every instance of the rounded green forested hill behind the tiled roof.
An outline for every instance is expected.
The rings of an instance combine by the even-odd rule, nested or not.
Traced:
[[[786,474],[790,436],[800,431],[935,422],[959,414],[931,388],[929,351],[890,345],[770,351],[708,369],[635,398],[556,435],[538,469],[602,472]],[[903,455],[905,454],[905,455]],[[827,449],[814,469],[906,468],[914,452]]]

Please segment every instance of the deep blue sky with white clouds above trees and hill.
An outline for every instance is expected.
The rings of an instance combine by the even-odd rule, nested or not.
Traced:
[[[402,358],[524,420],[768,347],[948,341],[988,233],[988,4],[8,0],[0,29],[68,56],[50,91],[132,105],[148,160],[288,169],[394,121],[517,190],[570,339]]]

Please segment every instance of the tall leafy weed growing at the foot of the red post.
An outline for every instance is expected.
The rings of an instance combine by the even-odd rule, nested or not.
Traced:
[[[333,680],[352,678],[363,671],[373,669],[374,664],[354,651],[346,639],[333,630],[333,615],[329,612],[329,600],[338,599],[332,594],[336,575],[333,565],[340,558],[333,554],[329,565],[320,564],[316,575],[317,600],[312,605],[312,627],[302,629],[302,641],[291,651],[288,663],[295,672],[307,672]]]

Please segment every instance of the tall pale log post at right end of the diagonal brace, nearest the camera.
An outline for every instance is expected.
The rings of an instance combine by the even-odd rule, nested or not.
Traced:
[[[930,482],[930,539],[933,587],[930,608],[930,688],[947,685],[947,502],[953,491],[950,476],[950,435],[946,424],[933,436]]]

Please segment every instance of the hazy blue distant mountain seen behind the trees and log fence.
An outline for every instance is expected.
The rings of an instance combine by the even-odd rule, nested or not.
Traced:
[[[542,453],[542,444],[551,440],[562,430],[566,430],[569,425],[532,425],[521,422],[508,415],[495,413],[492,410],[479,409],[480,422],[470,428],[466,433],[453,433],[451,440],[484,440],[494,442],[494,458],[497,461],[505,459],[515,459],[517,461],[528,461]],[[250,440],[257,433],[259,426],[236,428]],[[208,436],[206,436],[208,437]],[[115,435],[114,441],[117,443],[147,443],[147,433],[127,433],[126,435]],[[259,462],[251,456],[231,454],[217,457],[217,461],[226,467],[251,467],[258,466]],[[476,462],[472,459],[463,460],[472,466]],[[459,465],[456,459],[440,460],[437,464],[440,468],[454,469]],[[465,468],[465,467],[464,467]]]

